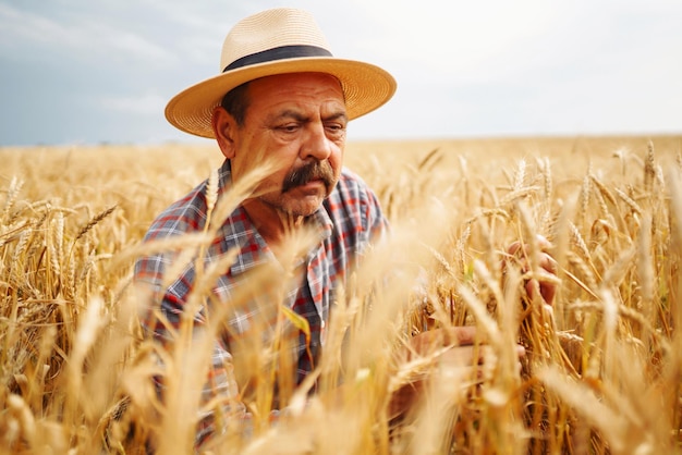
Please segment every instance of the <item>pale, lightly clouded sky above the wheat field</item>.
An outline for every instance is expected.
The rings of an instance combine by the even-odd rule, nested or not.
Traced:
[[[209,140],[167,101],[283,5],[398,81],[350,140],[682,133],[679,0],[0,0],[0,146]]]

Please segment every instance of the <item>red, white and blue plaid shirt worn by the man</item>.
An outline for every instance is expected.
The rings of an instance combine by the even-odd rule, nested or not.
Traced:
[[[230,161],[226,160],[219,172],[219,194],[231,185]],[[161,239],[190,232],[202,232],[207,219],[208,182],[205,181],[184,198],[166,209],[151,224],[145,242]],[[267,297],[254,296],[246,305],[230,308],[223,335],[216,341],[211,358],[209,380],[204,389],[204,401],[216,395],[226,397],[230,414],[246,416],[245,407],[239,402],[235,372],[232,369],[231,346],[239,344],[241,337],[249,334],[249,329],[258,331],[267,343],[275,332],[279,304],[305,318],[309,329],[309,339],[299,330],[293,330],[291,343],[294,365],[297,365],[295,383],[300,383],[314,368],[314,360],[319,355],[324,337],[320,336],[329,318],[330,305],[334,299],[334,290],[344,284],[346,272],[351,270],[365,247],[380,236],[388,223],[383,218],[378,200],[366,184],[348,169],[343,169],[340,180],[325,199],[322,207],[306,220],[319,230],[319,243],[302,260],[300,276],[284,293],[284,302],[268,302]],[[216,239],[207,248],[205,263],[217,260],[228,251],[239,253],[228,271],[219,276],[212,287],[211,297],[221,305],[231,305],[239,293],[240,283],[248,281],[248,272],[266,262],[272,263],[275,256],[264,238],[252,224],[243,207],[238,207],[224,221]],[[170,280],[169,286],[162,283],[165,271],[171,267],[178,254],[163,253],[143,257],[135,263],[135,281],[151,287],[153,307],[160,305],[161,313],[173,327],[179,327],[183,306],[187,302],[196,274],[195,263],[191,261],[179,276]],[[282,269],[283,270],[283,269]],[[305,272],[305,273],[304,273]],[[165,288],[163,288],[165,287]],[[243,287],[242,287],[243,288]],[[239,295],[239,294],[238,294]],[[281,294],[280,294],[281,295]],[[268,305],[269,304],[269,305]],[[204,322],[203,311],[195,315],[195,322]],[[265,321],[265,330],[264,330]],[[143,325],[162,342],[169,342],[165,325],[149,311],[143,318]],[[266,344],[267,345],[267,344]]]

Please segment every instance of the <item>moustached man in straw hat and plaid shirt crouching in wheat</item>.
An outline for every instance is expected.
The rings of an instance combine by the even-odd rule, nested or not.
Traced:
[[[217,188],[210,180],[197,186],[157,218],[145,239],[209,231],[215,223],[211,192],[226,197],[259,167],[270,165],[270,171],[224,221],[211,224],[215,239],[203,258],[169,278],[180,257],[148,256],[137,261],[135,279],[153,290],[153,309],[160,302],[162,318],[150,311],[144,323],[161,341],[171,342],[169,332],[187,311],[197,327],[207,323],[209,312],[224,319],[205,398],[224,396],[226,413],[247,418],[240,402],[240,388],[248,383],[241,377],[247,373],[236,367],[245,365],[236,354],[248,351],[243,341],[265,339],[267,345],[279,333],[281,308],[291,309],[284,311],[295,322],[288,332],[293,335],[283,344],[292,353],[293,381],[301,384],[319,358],[334,293],[366,247],[386,234],[377,197],[343,168],[343,151],[348,122],[387,102],[395,82],[375,65],[332,57],[313,17],[293,9],[238,23],[226,38],[220,69],[220,75],[175,96],[166,110],[180,130],[216,139],[226,157]],[[314,233],[314,242],[292,256],[292,234],[303,230]],[[226,256],[230,261],[210,283],[206,303],[190,305],[200,273]],[[254,290],[257,275],[252,272],[268,263],[292,271],[292,285]],[[472,328],[451,332],[462,345],[475,339]],[[197,438],[221,431],[215,427],[209,414]]]

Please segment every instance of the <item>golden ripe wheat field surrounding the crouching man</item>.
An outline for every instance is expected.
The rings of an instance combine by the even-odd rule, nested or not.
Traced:
[[[245,344],[238,367],[253,434],[228,432],[207,451],[682,453],[681,144],[352,145],[346,163],[379,195],[392,236],[341,290],[316,381],[293,390],[287,374],[272,374],[291,368],[275,364],[284,346]],[[194,416],[208,410],[198,401],[207,358],[197,352],[221,330],[221,312],[204,339],[182,328],[175,349],[160,352],[142,337],[137,318],[148,308],[131,268],[149,249],[179,251],[179,268],[200,257],[210,232],[139,239],[219,155],[199,146],[0,150],[0,454],[192,451]],[[231,204],[215,201],[211,222]],[[525,292],[543,273],[536,234],[559,263],[551,308]],[[523,273],[504,254],[520,238],[531,265]],[[292,257],[305,242],[292,238]],[[206,268],[193,302],[210,300],[229,266],[228,255]],[[277,295],[285,279],[256,271],[246,291]],[[306,330],[277,310],[282,327]],[[437,351],[397,354],[409,336],[453,324],[485,335],[474,374]],[[521,368],[516,344],[526,349]],[[172,392],[163,403],[155,374]],[[413,411],[391,415],[390,394],[419,378],[430,379]],[[290,411],[272,425],[276,384]]]

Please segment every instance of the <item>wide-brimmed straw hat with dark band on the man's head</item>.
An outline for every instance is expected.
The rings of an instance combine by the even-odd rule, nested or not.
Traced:
[[[222,45],[220,71],[169,101],[166,119],[173,126],[214,137],[210,119],[222,97],[245,82],[275,74],[319,72],[336,76],[350,120],[377,109],[395,93],[395,81],[380,67],[334,58],[313,16],[296,9],[267,10],[239,22]]]

